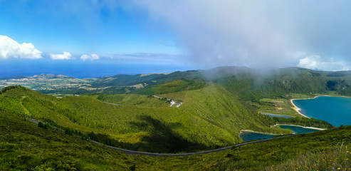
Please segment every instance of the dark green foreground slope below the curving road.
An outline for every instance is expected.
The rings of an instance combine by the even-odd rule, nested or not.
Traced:
[[[0,112],[4,170],[341,170],[350,168],[351,127],[189,157],[126,155]],[[333,157],[333,158],[330,158]],[[313,166],[313,168],[312,168]],[[307,168],[306,168],[307,167]]]

